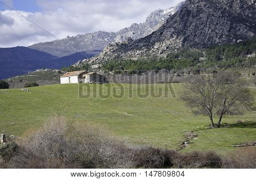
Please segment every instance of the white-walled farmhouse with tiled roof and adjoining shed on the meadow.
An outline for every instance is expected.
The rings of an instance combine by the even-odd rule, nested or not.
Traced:
[[[60,77],[61,84],[69,83],[108,83],[106,77],[96,72],[74,71]]]

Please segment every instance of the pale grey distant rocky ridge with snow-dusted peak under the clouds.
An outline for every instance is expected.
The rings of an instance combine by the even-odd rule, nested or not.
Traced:
[[[180,10],[184,2],[179,3],[175,7],[167,10],[156,10],[147,17],[145,23],[132,24],[129,28],[121,29],[118,32],[104,32],[98,31],[93,33],[86,33],[85,35],[77,35],[75,37],[67,37],[62,40],[55,40],[51,42],[40,42],[28,46],[28,48],[40,50],[56,57],[63,57],[66,55],[75,54],[77,52],[87,52],[94,55],[100,52],[112,42],[123,42],[131,37],[134,40],[150,35],[156,31],[166,19]]]

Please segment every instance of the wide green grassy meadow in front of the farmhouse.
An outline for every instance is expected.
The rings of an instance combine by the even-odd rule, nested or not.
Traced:
[[[235,149],[230,145],[256,140],[255,108],[225,117],[227,127],[211,130],[208,117],[195,117],[179,100],[181,84],[55,84],[28,89],[0,90],[0,133],[22,136],[51,115],[64,115],[71,121],[104,124],[133,144],[176,149],[185,132],[195,131],[199,136],[183,151],[225,153]],[[251,91],[256,96],[256,89]]]

